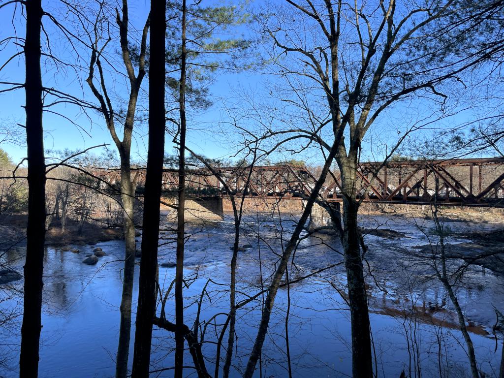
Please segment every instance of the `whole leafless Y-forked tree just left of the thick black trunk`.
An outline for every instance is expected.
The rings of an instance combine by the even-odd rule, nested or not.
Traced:
[[[88,49],[89,62],[86,83],[98,101],[96,110],[103,116],[107,130],[119,152],[120,159],[120,195],[123,209],[123,229],[125,240],[123,288],[120,305],[121,320],[119,342],[116,357],[116,377],[125,377],[128,372],[128,356],[131,334],[131,312],[133,298],[133,273],[135,268],[135,222],[134,202],[135,186],[131,177],[131,145],[136,121],[137,102],[146,74],[147,35],[149,17],[143,26],[138,51],[135,50],[132,36],[128,1],[121,3],[121,8],[111,9],[108,4],[96,2],[92,11],[79,4],[68,3],[68,9],[76,17],[79,25],[78,34],[82,35],[84,47]],[[94,12],[94,14],[93,14]],[[115,16],[115,26],[112,19]],[[114,34],[117,33],[117,34]],[[122,65],[127,79],[128,99],[125,113],[118,111],[120,104],[115,104],[110,95],[111,77],[108,66],[111,64],[108,46],[118,37]],[[114,68],[115,69],[115,68]],[[137,69],[137,72],[135,70]],[[118,135],[122,129],[122,137]]]

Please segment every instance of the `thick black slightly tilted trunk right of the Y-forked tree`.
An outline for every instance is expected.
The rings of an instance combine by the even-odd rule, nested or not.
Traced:
[[[145,178],[142,258],[133,355],[134,378],[148,378],[152,325],[156,306],[157,249],[165,131],[165,31],[166,2],[151,0],[149,72],[149,149]]]

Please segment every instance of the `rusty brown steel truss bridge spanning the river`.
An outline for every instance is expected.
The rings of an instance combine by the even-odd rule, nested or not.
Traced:
[[[120,181],[117,170],[101,171],[99,176],[112,185]],[[133,169],[132,178],[141,191],[145,170]],[[237,194],[299,200],[309,196],[316,180],[316,170],[288,164],[186,170],[187,192],[205,198]],[[161,184],[165,196],[174,195],[178,171],[165,169]],[[504,208],[504,158],[360,163],[355,191],[364,202],[431,204],[436,200],[442,205]],[[328,176],[320,198],[342,201],[337,169]]]

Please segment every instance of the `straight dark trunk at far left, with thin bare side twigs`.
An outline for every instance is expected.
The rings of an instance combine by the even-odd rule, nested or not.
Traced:
[[[42,329],[42,274],[45,239],[45,161],[42,128],[42,75],[40,71],[40,0],[26,8],[26,143],[28,150],[28,228],[24,266],[24,311],[21,326],[19,376],[38,375],[40,331]]]

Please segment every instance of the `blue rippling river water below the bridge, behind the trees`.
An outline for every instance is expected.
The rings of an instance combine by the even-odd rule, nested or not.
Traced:
[[[277,254],[282,250],[282,244],[286,244],[293,224],[288,217],[272,219],[265,215],[250,216],[243,220],[240,244],[250,244],[251,248],[240,251],[238,256],[238,302],[258,293],[262,285],[267,285],[278,260]],[[365,237],[368,246],[365,264],[368,272],[367,289],[377,374],[381,377],[399,377],[404,369],[412,377],[469,376],[465,344],[458,331],[450,299],[438,280],[432,278],[432,268],[429,266],[432,261],[413,253],[413,246],[427,244],[429,239],[433,239],[429,234],[431,222],[375,216],[362,218],[361,225],[366,228],[393,229],[405,234],[405,237],[395,239],[372,235]],[[498,227],[490,223],[447,222],[446,225],[459,232]],[[173,235],[167,232],[165,236],[159,262],[174,262]],[[203,352],[207,357],[207,368],[213,372],[215,342],[225,320],[222,313],[229,308],[227,285],[230,246],[234,237],[233,222],[226,216],[222,222],[193,226],[186,236],[184,277],[188,287],[184,290],[187,305],[185,324],[193,326],[197,303],[206,285],[201,296],[200,331],[205,331]],[[466,240],[459,234],[455,240],[450,240],[454,241]],[[100,258],[95,266],[82,264],[85,255],[98,246],[107,255]],[[47,248],[40,377],[114,375],[123,242],[107,241],[75,247],[80,249],[80,253]],[[279,290],[261,358],[261,374],[258,370],[257,376],[288,376],[285,337],[287,312],[292,375],[350,376],[350,314],[344,299],[346,277],[341,264],[341,251],[341,244],[333,235],[319,234],[300,243],[294,264],[289,265],[290,280],[337,265],[294,283],[289,289],[283,287]],[[15,261],[15,268],[21,271],[23,261],[16,254],[8,254],[7,259]],[[456,269],[459,266],[460,262],[454,260],[449,268]],[[163,293],[169,288],[174,272],[174,268],[159,268]],[[137,266],[135,292],[138,273]],[[12,285],[14,289],[20,289],[22,281]],[[470,322],[479,367],[486,376],[496,376],[501,340],[495,340],[492,326],[495,324],[494,308],[504,309],[502,277],[478,266],[471,267],[462,275],[456,293]],[[172,295],[173,292],[170,292],[166,303],[167,318],[171,320]],[[237,311],[237,342],[231,376],[241,376],[246,366],[260,319],[262,298],[259,295]],[[0,306],[4,312],[19,311],[20,303],[19,294],[15,294],[13,298],[0,302]],[[3,338],[0,376],[16,376],[20,319],[5,325],[0,334]],[[210,323],[204,327],[205,322]],[[134,330],[132,350],[133,335]],[[172,370],[164,369],[173,365],[172,336],[154,327],[152,369],[158,371],[153,376],[172,376]],[[226,339],[227,336],[224,346]],[[224,348],[221,356],[225,356]],[[186,364],[192,363],[188,354],[185,361]],[[192,369],[186,369],[186,373],[187,376],[196,376]]]

